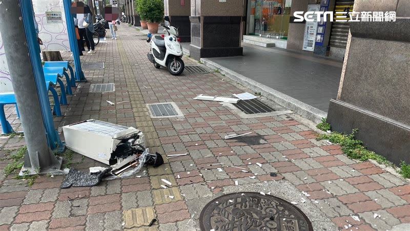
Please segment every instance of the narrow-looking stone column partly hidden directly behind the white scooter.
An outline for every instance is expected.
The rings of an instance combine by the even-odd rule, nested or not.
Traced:
[[[191,2],[186,0],[182,5],[181,0],[164,0],[164,15],[168,15],[171,25],[178,28],[179,38],[182,43],[191,41]]]

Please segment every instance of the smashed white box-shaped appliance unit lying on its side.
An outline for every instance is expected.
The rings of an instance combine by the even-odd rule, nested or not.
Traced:
[[[63,127],[67,148],[119,169],[137,157],[131,145],[145,147],[138,129],[95,119]]]

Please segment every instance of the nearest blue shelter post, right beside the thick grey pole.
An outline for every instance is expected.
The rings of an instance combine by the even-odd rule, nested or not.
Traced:
[[[44,79],[42,59],[40,58],[40,46],[37,42],[37,34],[35,32],[33,20],[33,4],[31,0],[19,1],[20,10],[23,15],[24,31],[28,43],[31,65],[33,66],[34,80],[37,87],[37,94],[40,100],[40,107],[43,114],[43,122],[47,132],[48,145],[52,150],[58,148],[64,150],[64,144],[61,142],[57,131],[54,128],[53,115],[51,114],[50,100]],[[24,46],[22,44],[22,46]],[[27,76],[28,78],[31,76]],[[24,126],[24,124],[23,124]]]

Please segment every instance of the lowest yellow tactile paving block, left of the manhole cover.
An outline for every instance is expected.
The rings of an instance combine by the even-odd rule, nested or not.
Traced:
[[[154,207],[131,208],[122,212],[124,228],[148,226],[155,217]]]

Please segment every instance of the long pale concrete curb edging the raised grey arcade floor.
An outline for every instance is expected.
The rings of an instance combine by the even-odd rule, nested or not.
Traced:
[[[248,77],[245,77],[239,73],[236,73],[228,68],[222,67],[221,65],[217,64],[209,60],[208,58],[201,58],[200,61],[207,67],[211,69],[217,69],[220,73],[226,75],[230,79],[240,83],[243,86],[248,87],[252,91],[260,92],[263,96],[275,101],[280,106],[288,108],[295,113],[301,115],[304,118],[312,120],[315,123],[321,122],[322,118],[326,118],[327,113],[310,106],[300,100],[297,100],[289,95],[285,95],[281,92],[278,92],[270,87],[264,86],[261,83],[252,80]]]

